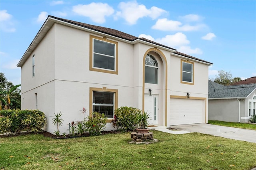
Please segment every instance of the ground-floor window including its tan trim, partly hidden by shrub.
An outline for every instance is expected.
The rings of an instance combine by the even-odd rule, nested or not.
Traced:
[[[90,87],[90,117],[92,112],[104,113],[111,122],[114,110],[118,108],[118,90]]]

